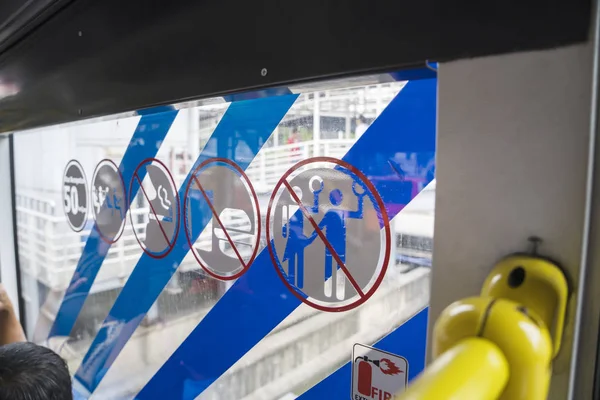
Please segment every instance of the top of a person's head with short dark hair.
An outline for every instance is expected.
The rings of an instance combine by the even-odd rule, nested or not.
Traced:
[[[34,343],[0,347],[0,400],[73,400],[67,364]]]

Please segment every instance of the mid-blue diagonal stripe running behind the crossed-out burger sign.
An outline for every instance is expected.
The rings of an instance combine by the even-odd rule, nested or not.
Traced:
[[[297,97],[284,95],[232,103],[192,171],[211,157],[231,159],[246,169]],[[190,179],[191,174],[179,190],[181,199]],[[202,219],[193,226],[194,238],[211,219],[208,206],[204,203],[202,207],[194,210],[198,213],[194,219]],[[75,375],[86,391],[91,393],[98,386],[189,250],[184,224],[179,224],[177,241],[166,257],[157,260],[142,255]]]

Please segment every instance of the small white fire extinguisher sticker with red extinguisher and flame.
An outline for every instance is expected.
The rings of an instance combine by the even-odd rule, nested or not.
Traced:
[[[362,344],[352,348],[352,400],[392,400],[406,390],[406,358]]]

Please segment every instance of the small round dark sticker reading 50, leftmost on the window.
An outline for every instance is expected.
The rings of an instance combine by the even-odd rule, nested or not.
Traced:
[[[87,181],[83,167],[71,160],[63,176],[63,208],[71,228],[79,232],[85,226],[88,212]]]

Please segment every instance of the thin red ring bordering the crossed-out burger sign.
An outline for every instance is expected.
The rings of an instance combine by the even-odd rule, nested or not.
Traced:
[[[188,245],[190,246],[190,250],[192,251],[192,254],[194,255],[194,258],[196,259],[196,261],[198,262],[198,264],[200,264],[200,266],[202,267],[202,269],[204,271],[206,271],[206,273],[208,273],[210,276],[212,276],[213,278],[217,278],[220,280],[224,280],[224,281],[230,281],[233,279],[237,279],[240,276],[242,276],[244,273],[246,273],[246,271],[250,268],[250,265],[252,264],[252,262],[254,261],[254,259],[256,258],[256,255],[258,254],[258,247],[260,245],[260,233],[261,233],[261,219],[260,219],[260,207],[258,205],[258,196],[256,195],[256,192],[254,191],[254,187],[252,186],[252,182],[250,182],[250,179],[248,178],[248,176],[246,175],[246,173],[244,172],[244,170],[242,168],[240,168],[239,165],[237,165],[235,162],[231,161],[228,158],[221,158],[221,157],[213,157],[213,158],[209,158],[208,160],[203,161],[202,163],[200,163],[200,165],[198,165],[194,171],[192,172],[191,175],[191,179],[188,181],[186,188],[185,188],[185,197],[184,199],[187,199],[189,196],[189,190],[192,186],[192,182],[196,179],[196,176],[201,172],[202,169],[204,169],[206,166],[208,166],[209,164],[214,164],[214,163],[218,163],[218,162],[222,162],[225,163],[229,166],[231,166],[234,170],[236,170],[237,172],[239,172],[240,176],[242,177],[242,179],[244,179],[244,181],[246,181],[246,184],[248,185],[248,188],[250,188],[250,195],[252,196],[252,198],[254,199],[254,208],[255,208],[255,213],[256,213],[256,219],[257,219],[257,231],[256,231],[256,243],[254,245],[254,251],[252,252],[252,256],[250,257],[250,259],[248,260],[247,263],[244,263],[244,261],[241,259],[240,257],[240,263],[242,264],[242,270],[234,275],[231,276],[222,276],[219,275],[213,271],[210,270],[210,268],[208,268],[208,266],[204,265],[204,263],[202,262],[202,259],[200,258],[200,256],[198,254],[196,254],[196,251],[194,250],[194,246],[192,243],[192,240],[190,238],[190,232],[188,230],[188,222],[187,222],[187,213],[188,213],[188,206],[187,206],[187,201],[184,201],[183,203],[183,226],[185,229],[185,237],[188,241]],[[200,182],[197,182],[198,185],[200,186]],[[214,219],[214,217],[213,217]],[[214,222],[213,222],[214,224]],[[225,231],[225,227],[222,227],[223,230]],[[245,264],[245,265],[244,265]]]

